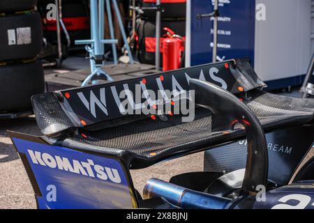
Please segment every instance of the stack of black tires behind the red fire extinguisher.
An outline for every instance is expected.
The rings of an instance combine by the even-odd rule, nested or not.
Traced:
[[[142,7],[156,6],[156,0],[141,0]],[[186,36],[186,0],[160,0],[164,12],[161,13],[161,39],[165,34],[163,28],[172,29],[179,36]],[[140,17],[137,26],[137,58],[141,63],[155,64],[156,52],[156,12],[147,10]],[[160,47],[161,48],[161,47]],[[160,49],[160,61],[163,52]]]

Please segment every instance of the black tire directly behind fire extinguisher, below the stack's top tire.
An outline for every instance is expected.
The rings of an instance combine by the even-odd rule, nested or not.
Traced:
[[[161,29],[167,27],[172,29],[179,36],[186,36],[186,21],[185,20],[167,20],[161,22]],[[151,38],[156,36],[156,25],[155,21],[152,20],[142,20],[138,26],[138,51],[137,58],[141,63],[147,63],[154,65],[155,64],[155,51],[147,52],[146,50],[146,38]],[[165,31],[162,31],[161,36],[165,34]],[[160,61],[163,61],[163,54],[160,54]]]

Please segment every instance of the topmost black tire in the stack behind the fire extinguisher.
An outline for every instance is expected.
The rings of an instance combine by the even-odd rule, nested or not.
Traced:
[[[160,4],[165,10],[161,13],[162,18],[185,18],[186,17],[186,2],[177,1],[177,3],[165,3],[161,1]],[[156,1],[145,1],[142,0],[143,7],[154,7],[156,6]],[[149,10],[144,11],[144,17],[156,18],[156,12]]]

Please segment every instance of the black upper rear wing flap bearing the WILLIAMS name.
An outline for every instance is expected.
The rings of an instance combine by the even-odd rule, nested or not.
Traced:
[[[248,59],[234,59],[161,72],[144,78],[34,95],[31,102],[38,127],[45,135],[52,136],[69,129],[89,128],[99,123],[123,120],[129,117],[124,111],[124,100],[128,100],[134,114],[140,114],[137,110],[144,102],[151,103],[149,92],[157,95],[164,91],[189,91],[188,81],[191,78],[217,84],[234,94],[266,86],[257,77]],[[133,98],[138,91],[143,95],[140,101]]]

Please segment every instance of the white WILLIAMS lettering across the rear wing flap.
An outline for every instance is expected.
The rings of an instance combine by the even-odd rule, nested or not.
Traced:
[[[218,72],[219,70],[213,67],[210,68],[209,73],[205,75],[207,75],[208,79],[212,79],[215,82],[218,82],[218,85],[222,86],[223,89],[227,89],[227,83],[224,79],[218,77]],[[189,83],[191,77],[186,72],[184,74],[186,77],[186,82]],[[205,75],[204,71],[200,70],[200,76],[198,79],[206,81],[207,79],[205,78]],[[172,75],[170,77],[172,82],[172,91],[170,89],[165,90],[163,87],[163,82],[160,80],[160,78],[156,78],[156,84],[158,86],[157,92],[147,89],[146,83],[140,81],[140,84],[135,84],[135,94],[133,93],[133,91],[130,91],[128,84],[124,84],[124,90],[121,91],[117,91],[116,86],[111,86],[107,89],[99,89],[99,93],[96,92],[96,90],[91,90],[89,92],[89,100],[87,93],[78,92],[77,95],[82,101],[84,107],[87,108],[87,110],[91,113],[92,116],[94,116],[94,118],[97,118],[98,115],[98,112],[96,112],[96,107],[98,107],[100,111],[103,112],[103,114],[109,116],[105,98],[105,95],[107,94],[113,95],[115,105],[117,105],[120,114],[123,115],[132,115],[134,114],[134,112],[135,114],[156,114],[154,113],[156,112],[154,109],[149,108],[151,107],[151,105],[156,104],[156,102],[165,102],[165,105],[167,105],[166,102],[170,102],[170,98],[172,98],[172,100],[173,98],[177,98],[178,103],[175,103],[174,111],[178,111],[178,113],[174,114],[179,114],[179,112],[181,112],[181,114],[190,114],[190,116],[194,116],[193,113],[195,111],[191,110],[192,108],[194,108],[194,106],[190,106],[189,108],[191,109],[188,109],[188,111],[181,111],[182,109],[179,111],[177,109],[178,106],[180,107],[180,103],[187,103],[187,100],[189,100],[188,97],[182,98],[181,95],[188,94],[186,94],[187,91],[186,93],[184,93],[185,90],[182,87],[183,84],[179,82],[175,75]],[[99,97],[96,95],[99,95]],[[184,102],[184,100],[186,100],[186,102]],[[191,103],[193,103],[193,101],[190,100],[188,104],[190,105]],[[169,109],[165,109],[164,114],[167,114],[167,112],[169,112],[168,110]]]

